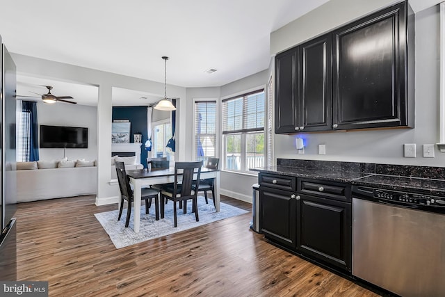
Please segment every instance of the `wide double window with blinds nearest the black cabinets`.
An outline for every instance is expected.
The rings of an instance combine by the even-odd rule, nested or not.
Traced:
[[[264,90],[223,100],[224,168],[264,167]]]

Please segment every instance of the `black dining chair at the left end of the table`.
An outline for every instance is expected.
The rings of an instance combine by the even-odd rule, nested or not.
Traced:
[[[124,200],[127,200],[127,220],[125,220],[125,227],[128,227],[131,215],[131,204],[133,202],[133,189],[131,188],[129,177],[125,171],[124,162],[116,161],[116,173],[118,175],[118,183],[120,189],[120,207],[118,220],[122,216],[122,209]],[[154,208],[156,220],[159,220],[159,190],[156,188],[141,188],[140,199],[145,200],[145,214],[149,213],[149,207],[152,205],[152,198],[154,198]]]

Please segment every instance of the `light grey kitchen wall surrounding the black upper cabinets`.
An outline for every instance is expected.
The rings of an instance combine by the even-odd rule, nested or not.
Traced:
[[[274,32],[271,35],[271,49],[279,51],[310,37],[307,32],[300,31],[307,29],[318,35],[321,31],[328,31],[330,26],[338,26],[348,19],[354,19],[355,14],[365,14],[366,10],[375,10],[375,7],[385,2],[388,1],[331,0],[313,13],[286,25],[283,31],[280,29]],[[344,9],[346,7],[347,10]],[[366,10],[358,11],[358,8]],[[320,22],[323,15],[323,22]],[[422,156],[423,144],[435,144],[439,141],[439,6],[416,13],[415,22],[414,129],[299,134],[299,137],[306,139],[305,154],[296,152],[296,135],[275,135],[275,157],[445,166],[445,154],[439,152],[437,147],[435,158]],[[291,28],[296,29],[292,34],[289,33]],[[300,35],[304,37],[296,38]],[[416,158],[403,157],[404,143],[416,143]],[[325,155],[318,155],[318,144],[326,145]]]

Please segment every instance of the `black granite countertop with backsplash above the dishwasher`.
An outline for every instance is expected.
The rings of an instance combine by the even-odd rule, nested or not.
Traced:
[[[275,175],[445,196],[445,168],[277,159],[277,166],[252,170]]]

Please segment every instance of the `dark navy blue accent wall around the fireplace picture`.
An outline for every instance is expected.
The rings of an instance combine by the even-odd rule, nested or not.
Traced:
[[[140,153],[140,163],[147,168],[147,150],[144,143],[147,141],[147,106],[115,106],[113,107],[113,120],[129,120],[130,125],[130,142],[134,142],[133,134],[140,132],[142,134],[142,146]]]

